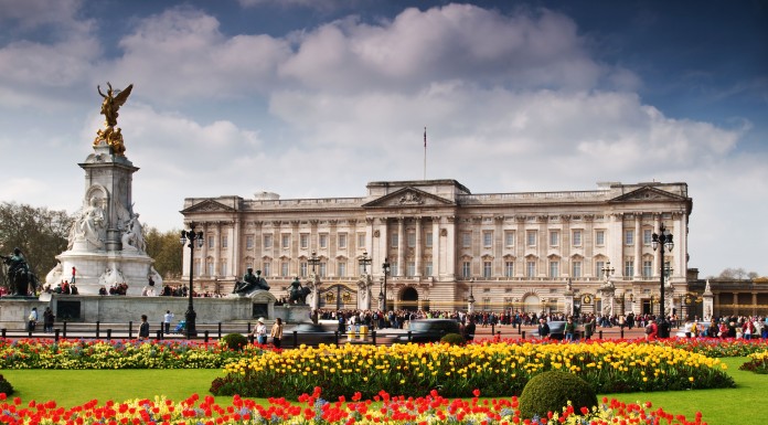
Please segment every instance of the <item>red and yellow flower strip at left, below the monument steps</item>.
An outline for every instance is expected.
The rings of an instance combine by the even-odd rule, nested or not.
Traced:
[[[218,342],[0,339],[0,369],[217,369],[260,352]]]

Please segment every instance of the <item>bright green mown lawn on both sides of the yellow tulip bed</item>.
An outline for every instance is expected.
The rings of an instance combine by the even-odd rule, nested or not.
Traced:
[[[759,406],[768,392],[768,375],[743,372],[738,366],[745,358],[724,359],[728,373],[738,387],[728,390],[696,390],[665,393],[602,394],[628,403],[650,401],[666,412],[683,414],[689,419],[696,411],[710,425],[762,425],[767,421]],[[60,406],[74,406],[90,400],[122,402],[130,399],[166,395],[173,401],[186,399],[193,393],[202,396],[221,370],[3,370],[3,376],[15,389],[24,404],[54,400]],[[265,383],[268,384],[268,383]],[[481,389],[482,390],[482,389]],[[279,394],[275,394],[279,396]],[[602,396],[600,395],[600,397]],[[232,397],[216,397],[216,403],[228,405]],[[266,401],[263,401],[266,403]],[[745,414],[747,411],[751,414]]]

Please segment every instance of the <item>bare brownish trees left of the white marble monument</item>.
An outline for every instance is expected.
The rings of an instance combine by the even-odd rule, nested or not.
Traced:
[[[12,202],[0,203],[0,253],[21,249],[32,272],[42,283],[56,265],[56,255],[66,251],[67,234],[74,222],[66,211],[52,211]],[[6,269],[0,268],[2,283]]]

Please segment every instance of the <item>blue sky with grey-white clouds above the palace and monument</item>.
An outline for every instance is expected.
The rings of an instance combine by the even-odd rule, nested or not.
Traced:
[[[736,6],[734,6],[736,4]],[[118,126],[146,225],[183,199],[687,182],[690,266],[768,275],[760,1],[0,0],[0,201],[74,212]]]

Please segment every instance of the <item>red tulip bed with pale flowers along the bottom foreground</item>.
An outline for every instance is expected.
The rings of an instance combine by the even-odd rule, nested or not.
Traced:
[[[701,414],[692,421],[673,415],[661,408],[651,410],[648,404],[626,404],[604,399],[600,406],[574,412],[565,406],[563,412],[554,412],[542,418],[521,418],[515,397],[509,400],[480,401],[479,392],[470,401],[448,400],[436,391],[428,396],[392,397],[380,392],[374,401],[363,401],[360,393],[350,402],[339,399],[327,402],[314,389],[312,395],[303,394],[300,404],[285,399],[269,399],[268,406],[235,396],[233,405],[222,407],[213,397],[202,401],[195,394],[190,399],[174,403],[164,397],[153,400],[132,400],[125,403],[107,402],[98,405],[96,401],[73,408],[57,407],[55,402],[29,402],[21,405],[20,399],[6,400],[0,393],[0,422],[7,425],[93,425],[93,424],[163,424],[163,425],[351,425],[354,423],[393,424],[393,425],[493,425],[493,424],[670,424],[706,425]],[[531,421],[534,419],[534,421]]]

